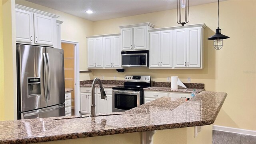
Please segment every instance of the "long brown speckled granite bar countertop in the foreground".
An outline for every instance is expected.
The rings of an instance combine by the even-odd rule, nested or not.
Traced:
[[[46,142],[209,125],[216,120],[226,96],[224,92],[203,91],[187,102],[184,98],[162,97],[119,115],[0,121],[0,143]]]

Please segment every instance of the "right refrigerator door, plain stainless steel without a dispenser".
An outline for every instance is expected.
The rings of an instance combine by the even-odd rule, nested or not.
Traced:
[[[47,106],[65,102],[64,52],[59,48],[46,48],[48,63]]]

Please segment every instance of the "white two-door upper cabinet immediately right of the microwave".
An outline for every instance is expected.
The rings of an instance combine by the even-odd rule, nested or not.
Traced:
[[[172,68],[172,30],[150,32],[149,68]]]

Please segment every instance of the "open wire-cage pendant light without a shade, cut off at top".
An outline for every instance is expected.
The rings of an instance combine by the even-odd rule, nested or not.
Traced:
[[[188,22],[189,22],[189,2],[188,0],[177,0],[177,23],[184,26],[184,24]]]

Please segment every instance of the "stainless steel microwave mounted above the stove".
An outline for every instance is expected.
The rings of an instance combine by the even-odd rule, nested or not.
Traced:
[[[123,67],[147,67],[148,50],[121,52]]]

